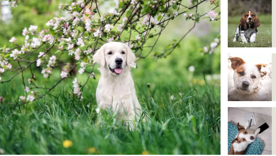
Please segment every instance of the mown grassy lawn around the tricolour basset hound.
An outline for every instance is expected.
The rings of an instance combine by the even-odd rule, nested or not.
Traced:
[[[228,17],[228,47],[271,47],[272,46],[272,16],[260,15],[261,25],[257,28],[256,41],[253,43],[242,43],[241,38],[236,42],[233,42],[235,37],[235,31],[239,26],[239,20],[241,16]]]

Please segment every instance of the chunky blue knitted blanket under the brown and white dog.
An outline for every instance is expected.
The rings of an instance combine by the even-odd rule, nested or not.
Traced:
[[[232,141],[239,133],[236,125],[228,122],[228,153],[231,147]],[[263,152],[263,143],[256,137],[255,141],[248,145],[245,155],[260,155]]]

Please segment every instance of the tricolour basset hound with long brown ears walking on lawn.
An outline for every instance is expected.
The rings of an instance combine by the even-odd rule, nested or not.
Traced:
[[[253,11],[247,11],[239,21],[239,27],[236,29],[236,35],[233,42],[238,41],[239,36],[241,36],[242,42],[255,42],[258,32],[257,27],[260,25],[261,23],[257,15]],[[246,38],[248,38],[248,42]]]

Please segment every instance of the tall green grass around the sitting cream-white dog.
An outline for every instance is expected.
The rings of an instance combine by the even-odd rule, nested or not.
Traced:
[[[82,84],[85,81],[82,76],[78,79]],[[5,154],[24,155],[93,154],[91,147],[95,154],[220,154],[219,81],[203,85],[185,77],[166,79],[155,83],[151,76],[134,77],[136,95],[151,124],[139,122],[129,131],[108,114],[103,115],[102,128],[95,125],[98,77],[88,81],[83,101],[70,95],[73,84],[67,78],[37,101],[10,105],[7,101],[16,101],[23,94],[22,79],[16,77],[10,84],[0,84],[4,98],[0,103],[0,149]],[[151,82],[149,90],[147,82]],[[47,87],[54,81],[43,79],[39,83]],[[64,140],[73,145],[64,148]]]

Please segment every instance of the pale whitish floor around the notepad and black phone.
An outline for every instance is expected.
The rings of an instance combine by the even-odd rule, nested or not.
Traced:
[[[257,135],[263,144],[262,155],[272,154],[272,108],[271,107],[228,107],[228,122],[234,125],[245,125],[244,115],[254,113],[256,125],[248,128],[248,131],[254,132],[258,127],[267,123],[269,128]]]

